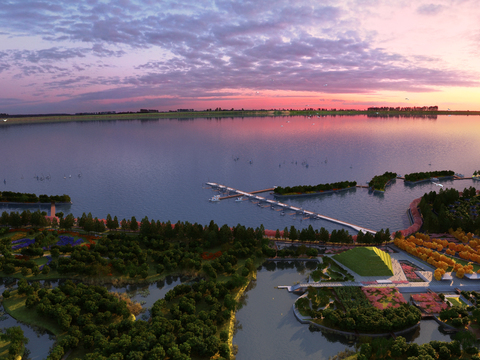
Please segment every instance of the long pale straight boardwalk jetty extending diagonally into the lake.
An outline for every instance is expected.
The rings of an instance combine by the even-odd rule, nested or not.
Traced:
[[[241,191],[241,190],[238,190],[238,189],[234,189],[234,188],[231,188],[231,187],[228,187],[228,186],[225,186],[225,185],[221,185],[221,184],[217,184],[217,183],[213,183],[213,182],[207,182],[206,184],[208,186],[213,187],[213,188],[218,188],[218,189],[221,189],[221,190],[236,193],[235,195],[229,195],[229,196],[221,197],[219,200],[227,199],[227,198],[230,198],[230,197],[245,196],[245,197],[248,197],[248,198],[253,199],[253,200],[266,202],[267,204],[270,204],[273,207],[278,206],[278,207],[281,207],[283,209],[293,210],[296,213],[303,214],[303,215],[308,216],[312,219],[323,219],[323,220],[327,220],[327,221],[330,221],[330,222],[333,222],[333,223],[336,223],[336,224],[348,226],[348,227],[354,229],[357,232],[362,231],[364,233],[367,233],[367,232],[369,232],[371,234],[376,233],[376,231],[374,231],[374,230],[367,229],[367,228],[364,228],[364,227],[361,227],[361,226],[358,226],[358,225],[354,225],[354,224],[348,223],[346,221],[337,220],[337,219],[331,218],[329,216],[314,213],[313,211],[303,210],[301,208],[298,208],[298,207],[295,207],[295,206],[292,206],[292,205],[288,205],[288,204],[285,204],[285,203],[281,203],[279,201],[270,200],[270,199],[266,199],[262,196],[255,195],[255,193],[271,191],[273,189],[257,190],[257,191],[252,191],[251,193],[247,193],[245,191]]]

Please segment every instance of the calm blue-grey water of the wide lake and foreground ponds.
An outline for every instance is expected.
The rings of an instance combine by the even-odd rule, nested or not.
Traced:
[[[230,226],[263,224],[267,229],[312,224],[331,231],[342,227],[280,216],[249,201],[211,203],[208,199],[215,193],[205,182],[253,191],[344,180],[365,184],[385,171],[403,175],[454,170],[470,176],[480,170],[479,119],[248,117],[2,126],[0,188],[68,194],[73,204],[57,206],[57,211],[75,216],[91,212],[119,220],[214,220]],[[37,176],[51,179],[40,181]],[[471,180],[443,184],[479,188]],[[285,202],[370,229],[395,231],[409,226],[409,203],[432,190],[439,188],[431,183],[409,187],[397,180],[380,195],[356,189]],[[4,206],[7,211],[24,208]],[[240,349],[237,359],[327,359],[351,346],[345,339],[310,332],[291,311],[296,295],[273,288],[304,278],[297,269],[259,271],[256,288],[237,313],[243,327],[234,338]],[[164,291],[150,288],[148,305]],[[411,337],[419,343],[431,339],[449,337],[427,322]]]

